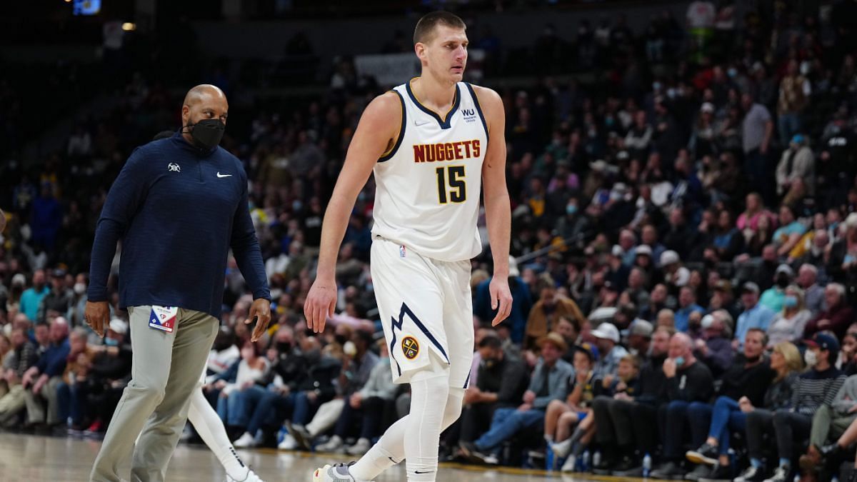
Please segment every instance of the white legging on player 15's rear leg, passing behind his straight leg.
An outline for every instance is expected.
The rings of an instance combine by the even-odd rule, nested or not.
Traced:
[[[463,400],[464,389],[449,388],[440,431],[446,430],[446,427],[452,425],[455,420],[458,420],[458,417],[461,415]],[[413,405],[411,408],[413,408]],[[393,425],[390,425],[390,428],[384,432],[378,443],[375,443],[366,455],[363,455],[356,464],[351,466],[351,475],[353,477],[363,480],[373,480],[387,470],[387,468],[393,467],[405,460],[405,432],[407,431],[407,419],[409,417],[411,415],[407,415],[397,420]]]

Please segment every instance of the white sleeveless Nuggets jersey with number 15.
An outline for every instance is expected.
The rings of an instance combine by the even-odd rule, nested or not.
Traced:
[[[411,82],[395,87],[402,126],[375,165],[372,234],[440,261],[470,259],[482,250],[476,229],[488,125],[473,87],[458,82],[441,118],[420,104]]]

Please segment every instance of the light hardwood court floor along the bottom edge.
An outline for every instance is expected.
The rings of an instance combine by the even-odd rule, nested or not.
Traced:
[[[0,480],[11,482],[85,481],[101,443],[71,437],[38,437],[0,433]],[[266,482],[310,482],[312,472],[325,463],[347,461],[343,455],[314,455],[273,449],[240,451],[243,460]],[[128,471],[123,473],[127,476]],[[217,459],[202,446],[180,444],[167,472],[170,482],[223,481],[225,473]],[[535,482],[553,480],[619,480],[609,477],[546,473],[511,468],[488,469],[442,464],[438,482]],[[393,467],[375,482],[404,482],[405,467]]]

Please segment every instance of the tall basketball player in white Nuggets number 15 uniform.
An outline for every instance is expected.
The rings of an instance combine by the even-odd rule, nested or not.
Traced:
[[[315,481],[369,481],[403,459],[408,480],[437,477],[440,431],[458,419],[469,382],[470,258],[482,249],[476,230],[481,190],[494,256],[493,324],[512,307],[503,105],[494,91],[461,81],[464,28],[446,12],[420,19],[414,43],[423,74],[363,111],[327,207],[318,272],[303,307],[307,325],[321,332],[333,315],[339,244],[374,171],[372,278],[393,379],[411,383],[412,395],[411,414],[360,461],[322,467]]]

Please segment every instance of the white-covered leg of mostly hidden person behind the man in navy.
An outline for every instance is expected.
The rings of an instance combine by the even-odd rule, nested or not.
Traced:
[[[202,441],[217,456],[226,473],[232,479],[247,479],[249,467],[245,466],[241,458],[238,457],[235,448],[232,447],[232,443],[226,435],[225,428],[223,428],[223,421],[220,420],[213,407],[208,404],[201,390],[195,390],[193,395],[190,395],[188,419],[194,425],[196,433],[200,434]]]

